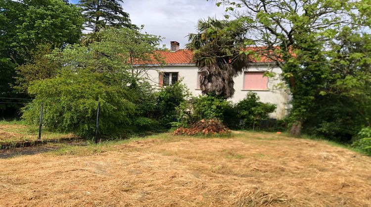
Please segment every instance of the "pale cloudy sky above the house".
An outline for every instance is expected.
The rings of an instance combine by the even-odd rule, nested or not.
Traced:
[[[196,32],[199,19],[222,19],[225,14],[224,8],[217,7],[213,0],[124,0],[122,7],[133,24],[144,25],[144,32],[164,37],[162,44],[168,48],[170,41],[178,41],[184,48],[186,35]]]

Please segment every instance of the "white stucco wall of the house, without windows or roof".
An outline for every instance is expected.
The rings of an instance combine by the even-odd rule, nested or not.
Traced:
[[[268,78],[268,90],[266,91],[257,91],[257,90],[244,90],[243,89],[243,82],[244,82],[244,74],[240,74],[234,78],[234,95],[230,99],[233,103],[237,103],[243,98],[246,97],[248,92],[257,93],[260,97],[260,101],[264,103],[272,103],[277,105],[277,109],[274,113],[271,114],[272,118],[281,119],[286,115],[287,111],[287,102],[289,96],[281,87],[278,87],[278,83],[281,83],[279,78],[279,74],[281,73],[281,69],[274,68],[270,65],[253,65],[250,68],[246,69],[246,71],[267,71],[270,70],[276,73],[276,77],[269,77]],[[188,87],[189,91],[193,94],[193,96],[198,96],[201,93],[201,90],[197,89],[197,72],[198,68],[194,65],[173,65],[173,66],[165,66],[165,67],[153,67],[147,70],[148,78],[151,80],[151,84],[154,86],[158,86],[159,81],[159,72],[179,72],[179,77],[183,79],[183,83]]]

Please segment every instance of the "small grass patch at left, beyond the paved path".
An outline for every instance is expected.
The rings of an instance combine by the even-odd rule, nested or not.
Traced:
[[[22,141],[35,141],[39,136],[39,127],[30,126],[22,121],[0,121],[0,144]],[[74,138],[73,134],[49,132],[43,128],[42,140]]]

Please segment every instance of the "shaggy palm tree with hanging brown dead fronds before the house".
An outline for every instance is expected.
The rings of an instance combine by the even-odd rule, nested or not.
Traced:
[[[238,20],[199,20],[197,34],[189,34],[186,48],[194,51],[193,61],[200,72],[203,94],[231,98],[234,94],[233,77],[251,63],[244,50],[249,40]]]

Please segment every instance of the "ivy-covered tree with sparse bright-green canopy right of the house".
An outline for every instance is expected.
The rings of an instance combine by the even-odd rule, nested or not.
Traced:
[[[348,56],[333,55],[341,48],[329,45],[336,45],[344,31],[360,33],[370,26],[365,18],[370,17],[370,0],[218,0],[217,5],[221,4],[245,20],[244,27],[255,45],[264,46],[258,52],[276,60],[282,69],[293,97],[292,134],[300,135],[303,122],[318,109],[318,95],[327,93],[329,80],[355,78],[350,73],[339,76],[346,72],[344,67],[334,70],[330,62],[350,63]],[[363,59],[361,62],[370,61],[365,53],[350,52],[350,57]],[[335,72],[339,69],[340,73]]]

